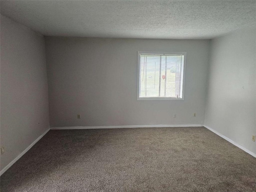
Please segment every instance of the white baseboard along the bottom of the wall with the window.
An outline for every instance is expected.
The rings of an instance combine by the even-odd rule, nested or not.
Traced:
[[[202,127],[202,125],[122,125],[122,126],[84,126],[84,127],[51,127],[52,130],[62,129],[113,129],[113,128],[147,128],[147,127]]]

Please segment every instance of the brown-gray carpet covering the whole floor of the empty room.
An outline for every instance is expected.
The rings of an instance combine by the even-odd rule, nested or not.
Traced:
[[[256,192],[256,158],[204,127],[50,130],[1,192]]]

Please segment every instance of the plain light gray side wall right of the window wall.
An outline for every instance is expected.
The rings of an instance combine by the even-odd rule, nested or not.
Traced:
[[[210,44],[205,125],[256,153],[256,27]]]

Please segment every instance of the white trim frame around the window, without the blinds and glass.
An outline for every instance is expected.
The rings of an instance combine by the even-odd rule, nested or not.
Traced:
[[[184,65],[183,65],[183,73],[182,73],[182,98],[159,98],[159,97],[139,97],[139,89],[140,89],[140,54],[184,54]],[[138,101],[184,101],[185,99],[185,77],[186,77],[186,60],[187,60],[187,52],[153,52],[153,51],[138,51],[138,68],[137,68],[137,100]]]

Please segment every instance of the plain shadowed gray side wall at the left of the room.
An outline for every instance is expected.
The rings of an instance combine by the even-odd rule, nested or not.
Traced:
[[[44,36],[1,15],[1,170],[49,128]]]

